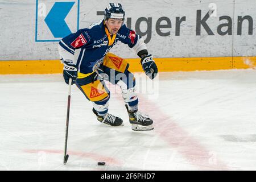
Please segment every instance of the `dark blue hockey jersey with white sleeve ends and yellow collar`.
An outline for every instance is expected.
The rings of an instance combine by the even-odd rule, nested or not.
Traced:
[[[66,36],[60,40],[59,44],[74,55],[73,64],[76,64],[77,71],[86,74],[92,73],[100,66],[106,53],[118,41],[127,44],[137,53],[147,49],[143,38],[134,30],[127,28],[125,24],[117,34],[110,35],[104,20]]]

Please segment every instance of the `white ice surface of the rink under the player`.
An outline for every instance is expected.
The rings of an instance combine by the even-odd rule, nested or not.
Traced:
[[[72,86],[64,166],[62,75],[1,75],[0,170],[256,169],[254,69],[159,73],[155,87],[154,97],[139,93],[139,109],[155,123],[140,132],[131,130],[121,94],[111,94],[109,112],[124,126],[110,127]]]

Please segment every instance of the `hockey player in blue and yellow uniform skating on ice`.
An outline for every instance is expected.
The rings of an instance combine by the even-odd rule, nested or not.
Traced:
[[[122,125],[122,119],[108,113],[110,92],[104,79],[108,75],[112,84],[122,82],[122,97],[126,103],[132,129],[137,131],[152,130],[152,119],[138,111],[138,96],[135,93],[135,78],[129,71],[126,60],[109,53],[118,42],[127,44],[141,57],[144,72],[151,78],[158,73],[152,55],[148,55],[143,38],[126,27],[125,11],[120,3],[109,3],[105,9],[104,20],[88,28],[78,30],[59,42],[60,60],[64,64],[63,76],[68,84],[76,84],[85,97],[93,102],[93,113],[98,121],[110,126]],[[113,79],[113,74],[123,74],[122,78]]]

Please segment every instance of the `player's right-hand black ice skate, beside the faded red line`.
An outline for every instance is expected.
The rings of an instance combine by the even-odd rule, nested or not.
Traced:
[[[134,131],[149,131],[153,130],[153,120],[148,115],[141,113],[138,110],[131,111],[128,109],[128,105],[125,105],[129,114],[129,121],[131,123],[131,129]]]

